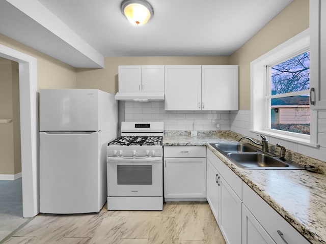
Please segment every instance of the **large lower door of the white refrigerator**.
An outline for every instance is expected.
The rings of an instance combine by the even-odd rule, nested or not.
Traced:
[[[78,214],[101,209],[99,138],[99,132],[40,132],[41,212]]]

